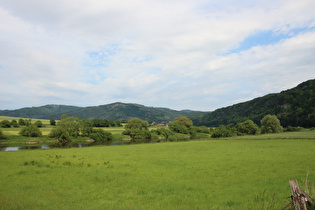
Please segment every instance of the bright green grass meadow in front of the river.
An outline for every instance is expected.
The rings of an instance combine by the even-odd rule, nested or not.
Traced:
[[[2,209],[281,209],[315,180],[314,139],[0,152]]]

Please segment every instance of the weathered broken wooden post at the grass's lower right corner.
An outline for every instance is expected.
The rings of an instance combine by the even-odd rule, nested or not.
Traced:
[[[292,192],[292,203],[296,210],[307,210],[307,202],[313,203],[313,199],[303,192],[296,180],[290,180],[290,188]]]

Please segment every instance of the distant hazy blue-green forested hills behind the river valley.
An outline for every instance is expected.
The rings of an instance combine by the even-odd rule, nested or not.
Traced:
[[[128,120],[138,117],[148,122],[167,123],[175,117],[200,117],[207,112],[176,111],[168,108],[147,107],[139,104],[113,103],[101,106],[75,107],[64,105],[46,105],[18,110],[3,110],[0,115],[23,118],[60,119],[62,114],[84,119]]]

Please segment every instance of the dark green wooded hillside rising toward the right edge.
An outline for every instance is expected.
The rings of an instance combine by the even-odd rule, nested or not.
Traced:
[[[260,124],[267,114],[276,115],[284,127],[315,127],[315,80],[308,80],[281,93],[217,109],[193,119],[193,123],[216,127],[251,119]]]

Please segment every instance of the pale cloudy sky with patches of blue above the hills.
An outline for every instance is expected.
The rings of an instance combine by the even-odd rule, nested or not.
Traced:
[[[0,109],[213,111],[315,79],[314,0],[0,0]]]

